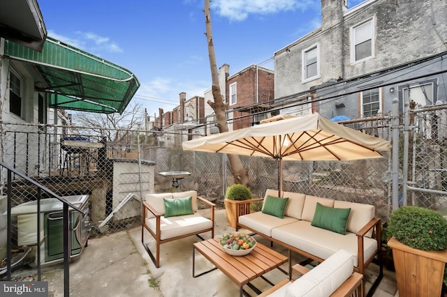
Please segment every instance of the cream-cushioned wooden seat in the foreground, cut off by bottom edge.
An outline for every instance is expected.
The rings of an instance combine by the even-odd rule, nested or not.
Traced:
[[[363,275],[353,272],[353,257],[339,250],[323,263],[309,270],[296,264],[293,269],[302,274],[298,280],[283,280],[258,297],[358,297],[362,296]]]

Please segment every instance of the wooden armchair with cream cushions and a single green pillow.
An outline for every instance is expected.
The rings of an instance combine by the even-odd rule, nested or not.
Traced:
[[[198,211],[198,201],[207,207],[209,216],[205,217],[205,214]],[[142,205],[141,242],[156,268],[160,267],[162,243],[192,235],[199,236],[207,231],[211,231],[211,238],[214,238],[215,205],[197,196],[196,191],[147,194]],[[145,243],[145,230],[156,241],[155,257]]]

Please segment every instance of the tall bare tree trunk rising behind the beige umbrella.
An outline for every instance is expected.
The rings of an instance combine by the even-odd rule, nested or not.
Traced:
[[[210,68],[211,68],[211,77],[212,77],[212,96],[214,98],[214,102],[208,100],[208,105],[214,110],[217,119],[217,128],[219,128],[219,132],[227,132],[228,124],[226,122],[225,110],[226,104],[223,103],[221,88],[219,86],[219,75],[217,73],[217,65],[216,65],[216,54],[214,53],[214,43],[212,41],[212,27],[211,27],[211,14],[210,14],[210,1],[205,0],[205,25],[206,25],[206,33],[207,43],[208,43],[208,56],[210,56]],[[239,158],[239,155],[228,155],[228,160],[230,161],[231,169],[233,169],[233,177],[235,179],[235,183],[242,183],[242,185],[248,185],[248,169],[244,168],[242,162]]]

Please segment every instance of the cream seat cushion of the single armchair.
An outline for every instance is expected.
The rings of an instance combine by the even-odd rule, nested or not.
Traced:
[[[149,229],[156,233],[156,218],[146,218],[145,220]],[[212,220],[204,218],[198,213],[169,218],[162,216],[160,220],[161,240],[212,228]]]

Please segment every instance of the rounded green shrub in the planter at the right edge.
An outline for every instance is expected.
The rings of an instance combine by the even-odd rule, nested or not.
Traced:
[[[398,241],[419,250],[447,248],[447,220],[436,211],[419,206],[397,208],[388,219],[387,231]]]

